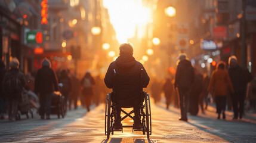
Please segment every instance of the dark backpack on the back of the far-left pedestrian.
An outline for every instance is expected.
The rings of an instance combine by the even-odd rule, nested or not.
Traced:
[[[18,77],[16,77],[16,74],[12,74],[8,78],[5,88],[8,94],[16,94],[22,91],[21,81]]]

